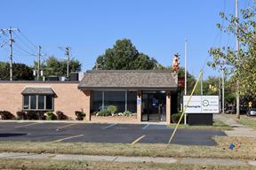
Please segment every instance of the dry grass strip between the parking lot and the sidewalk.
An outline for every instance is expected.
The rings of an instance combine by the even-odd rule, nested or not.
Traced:
[[[253,138],[215,136],[217,146],[185,146],[178,144],[124,143],[28,143],[0,142],[0,152],[60,153],[111,156],[148,156],[172,158],[242,158],[256,159]],[[234,151],[230,143],[240,145]]]

